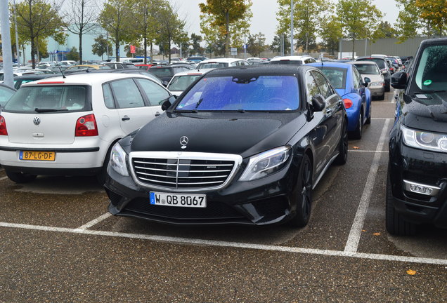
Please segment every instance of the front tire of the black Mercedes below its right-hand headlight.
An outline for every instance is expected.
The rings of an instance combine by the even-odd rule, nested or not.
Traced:
[[[290,224],[293,227],[305,227],[311,217],[312,206],[312,163],[306,154],[299,168],[298,182],[293,195],[296,198],[297,210]]]

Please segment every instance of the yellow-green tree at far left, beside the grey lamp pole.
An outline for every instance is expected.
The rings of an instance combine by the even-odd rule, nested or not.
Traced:
[[[13,11],[12,6],[11,11]],[[52,36],[58,43],[65,43],[63,22],[58,11],[58,6],[51,6],[45,0],[25,0],[15,4],[18,35],[24,43],[31,43],[33,68],[36,67],[36,54],[39,59],[39,39],[45,40]],[[13,15],[12,12],[11,15]]]

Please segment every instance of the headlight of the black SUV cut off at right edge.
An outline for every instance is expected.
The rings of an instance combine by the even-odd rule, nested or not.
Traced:
[[[434,152],[447,152],[447,135],[413,130],[401,126],[403,142],[409,147],[427,149]]]

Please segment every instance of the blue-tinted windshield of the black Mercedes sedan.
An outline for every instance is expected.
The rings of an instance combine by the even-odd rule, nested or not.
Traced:
[[[215,76],[195,83],[176,110],[283,111],[298,107],[294,76]]]

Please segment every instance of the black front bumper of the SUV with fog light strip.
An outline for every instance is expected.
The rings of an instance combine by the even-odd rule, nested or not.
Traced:
[[[396,211],[408,222],[447,228],[447,154],[407,147],[400,142],[394,149],[390,146],[389,164]],[[435,190],[421,194],[412,191],[409,184]]]

